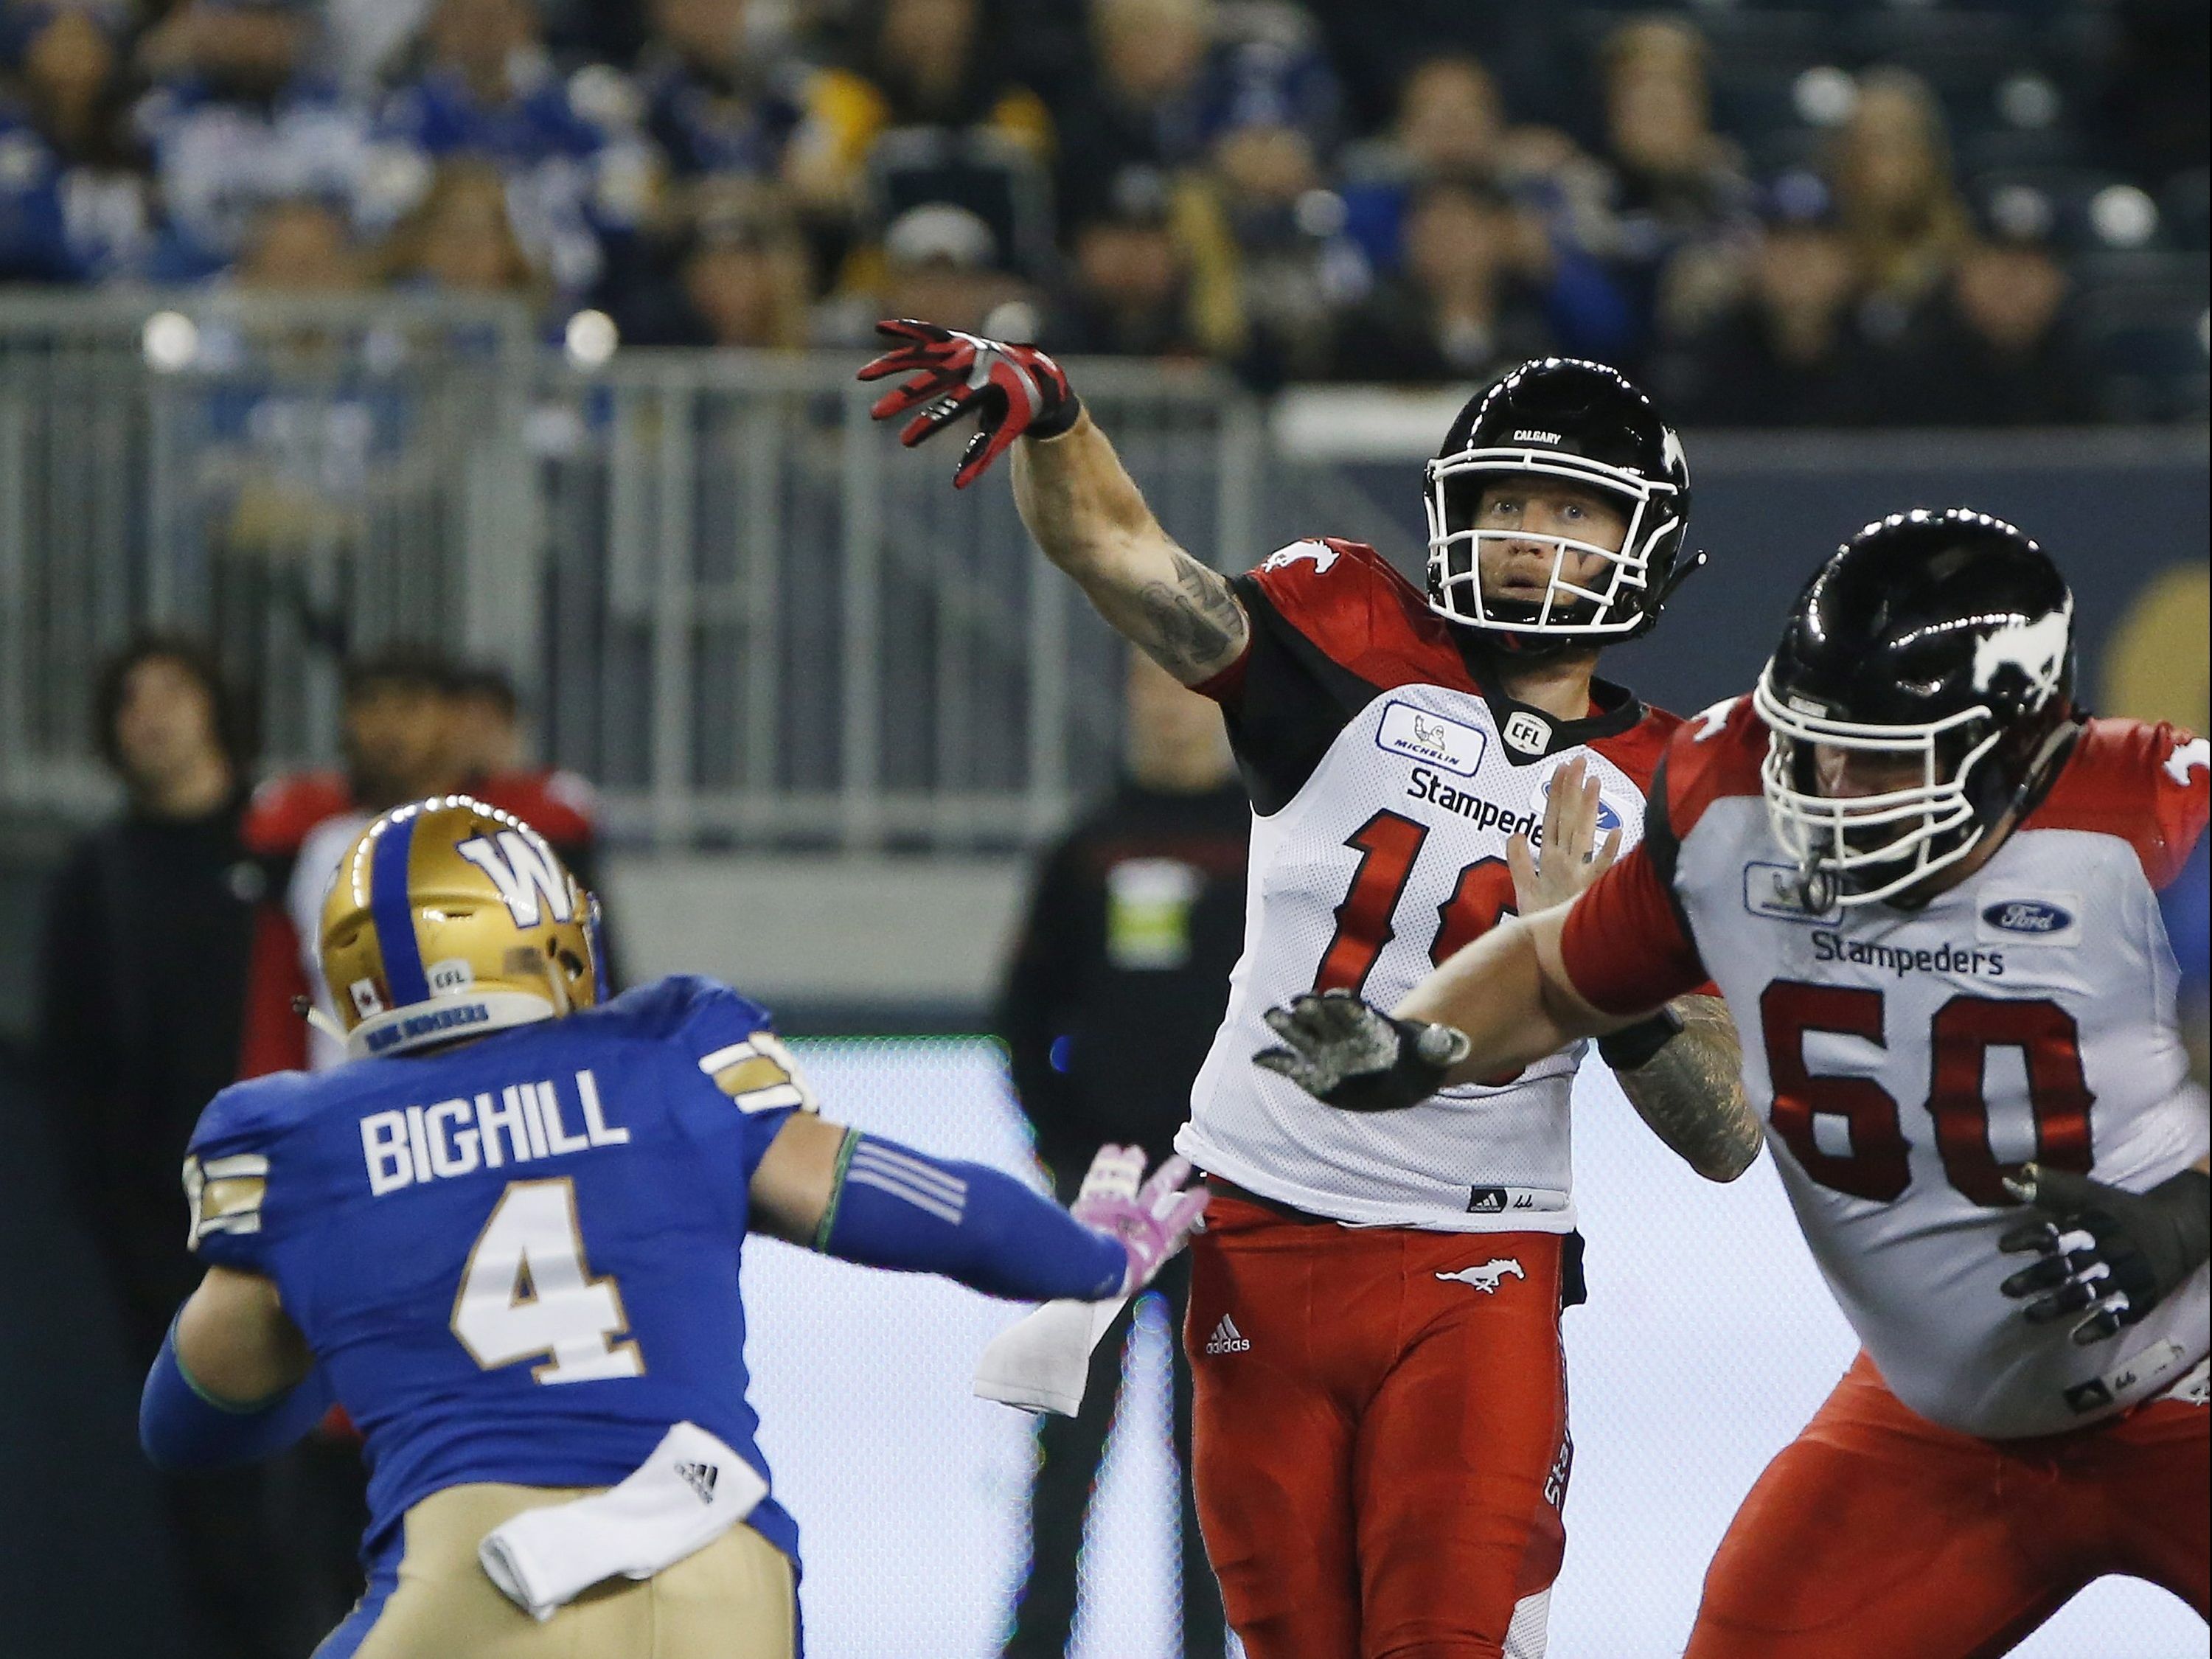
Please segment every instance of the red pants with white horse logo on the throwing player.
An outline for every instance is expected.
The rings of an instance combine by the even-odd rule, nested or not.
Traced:
[[[1506,1652],[1566,1546],[1559,1252],[1214,1194],[1183,1323],[1192,1473],[1250,1659]]]

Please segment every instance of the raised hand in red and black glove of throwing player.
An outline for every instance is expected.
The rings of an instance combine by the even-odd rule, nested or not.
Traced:
[[[975,436],[960,453],[953,489],[967,489],[1015,438],[1057,438],[1084,409],[1068,389],[1068,376],[1035,345],[1006,345],[909,319],[876,323],[876,332],[898,345],[860,369],[860,378],[914,376],[869,407],[876,420],[920,409],[898,442],[914,449],[960,416],[980,416]]]

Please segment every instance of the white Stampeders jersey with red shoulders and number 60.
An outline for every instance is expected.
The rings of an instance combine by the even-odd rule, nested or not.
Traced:
[[[2020,1223],[2000,1170],[2037,1159],[2143,1190],[2205,1155],[2157,898],[2203,834],[2203,741],[2090,721],[1964,883],[1913,911],[1825,914],[1805,909],[1767,830],[1765,748],[1750,699],[1674,739],[1644,856],[1571,922],[1590,929],[1588,969],[1568,942],[1577,987],[1599,1006],[1641,1002],[1635,971],[1608,964],[1621,929],[1666,931],[1668,907],[1635,889],[1670,883],[1694,960],[1646,993],[1701,967],[1721,984],[1805,1239],[1907,1407],[2011,1438],[2172,1387],[2212,1338],[2212,1270],[2077,1347],[2075,1321],[2031,1325],[1997,1290],[2026,1265],[1997,1250]]]

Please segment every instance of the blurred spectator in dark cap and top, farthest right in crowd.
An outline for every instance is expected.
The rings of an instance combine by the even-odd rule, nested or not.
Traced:
[[[1887,414],[1924,427],[2057,427],[2093,414],[2051,204],[2013,186],[1885,358]]]

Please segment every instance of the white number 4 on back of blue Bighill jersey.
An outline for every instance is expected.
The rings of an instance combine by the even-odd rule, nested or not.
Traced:
[[[644,1376],[637,1343],[615,1340],[624,1329],[622,1287],[593,1279],[584,1261],[575,1183],[509,1181],[453,1296],[460,1345],[487,1371],[544,1360],[531,1371],[538,1383]]]

